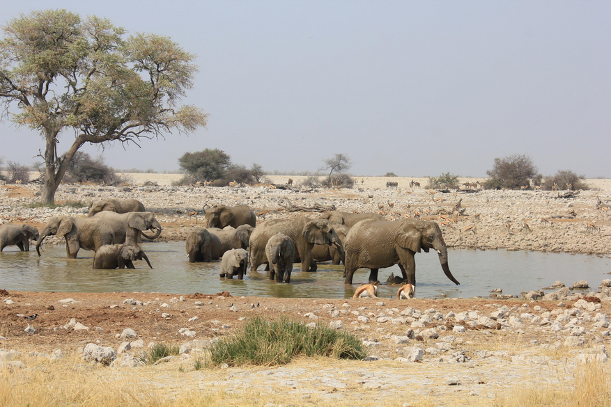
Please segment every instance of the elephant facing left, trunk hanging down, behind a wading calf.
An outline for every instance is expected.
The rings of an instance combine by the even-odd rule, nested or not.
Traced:
[[[47,236],[63,237],[65,253],[70,259],[77,258],[79,249],[97,251],[105,244],[115,243],[114,231],[100,218],[95,217],[53,216],[49,218],[36,241],[36,253],[39,256],[40,245]]]

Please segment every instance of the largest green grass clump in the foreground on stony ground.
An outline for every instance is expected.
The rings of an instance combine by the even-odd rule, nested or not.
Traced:
[[[342,330],[262,317],[248,319],[240,332],[210,348],[213,365],[284,365],[295,356],[362,359],[367,353],[357,337]]]

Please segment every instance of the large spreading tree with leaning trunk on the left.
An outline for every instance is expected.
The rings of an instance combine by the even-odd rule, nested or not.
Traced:
[[[54,203],[68,164],[85,143],[102,148],[172,130],[206,127],[208,116],[179,106],[197,72],[194,55],[167,37],[125,29],[109,19],[66,10],[20,15],[3,27],[0,41],[2,118],[40,131],[45,139],[43,204]],[[10,108],[17,106],[19,113]],[[74,131],[63,154],[60,135]]]

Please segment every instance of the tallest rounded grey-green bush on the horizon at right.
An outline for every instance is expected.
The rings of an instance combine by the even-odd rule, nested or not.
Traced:
[[[536,177],[537,168],[527,154],[512,154],[502,159],[495,158],[492,170],[486,171],[490,179],[484,186],[488,189],[520,189],[530,186],[530,179]]]

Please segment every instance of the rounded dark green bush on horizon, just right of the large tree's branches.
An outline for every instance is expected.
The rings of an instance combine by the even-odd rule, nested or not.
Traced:
[[[231,166],[231,157],[223,150],[206,148],[198,152],[185,152],[178,159],[178,165],[185,170],[189,178],[185,183],[212,182],[224,178]]]

